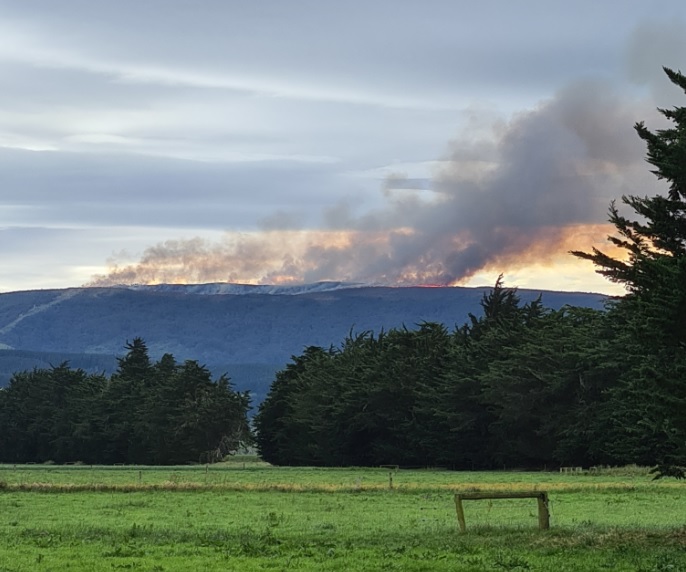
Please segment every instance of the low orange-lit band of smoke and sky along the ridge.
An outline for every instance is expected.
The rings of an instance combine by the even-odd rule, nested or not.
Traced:
[[[617,293],[617,286],[599,280],[593,265],[569,254],[590,252],[593,247],[613,257],[623,251],[608,241],[609,224],[585,224],[535,229],[498,228],[505,248],[488,253],[481,268],[452,277],[445,261],[474,241],[465,233],[438,237],[410,257],[406,240],[421,241],[409,228],[393,231],[269,231],[227,233],[220,241],[202,239],[168,241],[147,249],[140,261],[113,265],[94,285],[197,284],[298,284],[343,280],[394,286],[488,285],[504,274],[511,286],[594,290]],[[412,251],[412,243],[409,249]],[[557,282],[556,282],[557,280]]]

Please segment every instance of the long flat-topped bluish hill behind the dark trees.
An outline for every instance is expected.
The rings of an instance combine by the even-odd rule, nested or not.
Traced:
[[[0,294],[0,383],[13,371],[69,361],[110,373],[127,340],[154,358],[172,353],[228,373],[260,401],[273,373],[309,345],[338,345],[352,332],[423,321],[448,328],[479,314],[488,288],[390,288],[324,282],[70,288]],[[519,290],[550,308],[601,308],[605,296]]]

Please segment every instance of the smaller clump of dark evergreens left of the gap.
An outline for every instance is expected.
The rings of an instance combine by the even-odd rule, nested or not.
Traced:
[[[196,361],[153,363],[126,345],[110,377],[68,363],[16,373],[0,390],[0,461],[211,462],[251,442],[250,398]]]

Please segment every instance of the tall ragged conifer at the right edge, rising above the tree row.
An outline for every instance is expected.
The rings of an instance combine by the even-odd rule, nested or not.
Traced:
[[[664,68],[686,93],[686,77]],[[573,254],[592,261],[597,272],[625,285],[628,294],[613,312],[623,324],[620,341],[625,371],[614,391],[614,425],[624,455],[650,461],[663,471],[685,476],[686,465],[686,107],[659,109],[672,124],[635,129],[646,142],[647,161],[668,183],[666,196],[624,196],[636,218],[613,203],[610,242],[622,249],[612,257],[600,249]],[[642,444],[642,446],[641,446]],[[638,449],[640,447],[640,449]]]

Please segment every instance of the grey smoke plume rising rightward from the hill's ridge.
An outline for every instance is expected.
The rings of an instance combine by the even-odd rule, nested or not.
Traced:
[[[324,213],[318,230],[278,225],[148,248],[94,284],[464,282],[479,271],[546,263],[604,245],[610,200],[650,194],[655,181],[632,127],[652,106],[580,82],[508,122],[451,142],[428,182],[389,177],[383,208]]]

